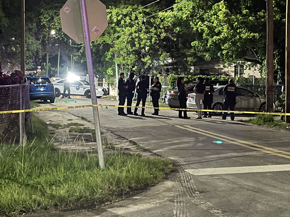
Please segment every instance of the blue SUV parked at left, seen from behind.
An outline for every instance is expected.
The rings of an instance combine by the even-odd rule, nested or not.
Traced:
[[[51,103],[55,102],[54,87],[47,76],[27,77],[27,81],[30,84],[30,100],[44,100],[44,102],[49,100]]]

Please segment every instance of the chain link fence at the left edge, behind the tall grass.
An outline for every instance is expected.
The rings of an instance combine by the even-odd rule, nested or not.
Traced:
[[[29,84],[0,86],[0,111],[30,108]],[[22,144],[31,113],[0,114],[0,144]]]

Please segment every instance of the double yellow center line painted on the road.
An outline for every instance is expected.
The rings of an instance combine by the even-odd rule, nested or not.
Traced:
[[[267,154],[270,154],[270,155],[277,155],[277,156],[280,156],[280,157],[285,157],[285,158],[288,158],[290,159],[290,156],[287,156],[287,155],[282,155],[282,154],[279,154],[279,153],[274,153],[274,152],[271,152],[271,151],[268,151],[268,150],[261,150],[259,148],[255,148],[255,147],[251,147],[251,146],[247,146],[247,145],[244,145],[242,143],[239,143],[239,142],[235,142],[235,141],[230,141],[228,139],[224,139],[222,138],[221,135],[218,135],[218,136],[215,136],[215,135],[209,135],[207,133],[203,133],[203,132],[200,132],[200,131],[197,131],[197,130],[192,130],[192,129],[189,129],[189,128],[185,128],[185,127],[182,127],[182,126],[178,126],[178,125],[174,125],[180,129],[184,129],[184,130],[188,130],[188,131],[191,131],[191,132],[194,132],[194,133],[199,133],[199,134],[202,134],[202,135],[205,135],[207,137],[212,137],[214,139],[219,139],[219,140],[223,140],[223,141],[226,141],[226,142],[229,142],[229,143],[232,143],[232,144],[235,144],[235,145],[238,145],[238,146],[242,146],[242,147],[245,147],[245,148],[251,148],[253,150],[257,150],[257,151],[260,151],[260,152],[264,152],[264,153],[267,153]],[[209,132],[210,133],[210,132]],[[232,138],[230,138],[232,139]],[[234,139],[233,139],[234,140]],[[279,151],[279,150],[278,150]],[[281,151],[279,151],[281,152]]]

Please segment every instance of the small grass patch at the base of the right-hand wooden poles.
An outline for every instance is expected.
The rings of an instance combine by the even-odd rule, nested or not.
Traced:
[[[290,124],[286,124],[282,120],[274,119],[274,115],[258,114],[254,118],[244,120],[242,122],[248,122],[258,126],[268,126],[276,129],[285,129],[286,127],[290,126]]]

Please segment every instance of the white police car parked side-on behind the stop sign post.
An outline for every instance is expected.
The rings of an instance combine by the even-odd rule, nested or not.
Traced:
[[[52,84],[55,87],[55,97],[59,97],[64,92],[64,83],[66,79],[53,81]],[[96,86],[97,98],[101,98],[106,95],[107,90],[103,87]],[[85,96],[91,98],[90,83],[86,80],[75,80],[70,82],[70,95]]]

